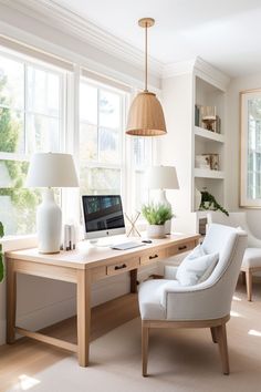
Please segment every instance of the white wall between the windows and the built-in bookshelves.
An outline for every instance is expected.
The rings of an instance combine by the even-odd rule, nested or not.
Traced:
[[[168,133],[160,140],[160,164],[176,166],[179,189],[168,190],[167,198],[177,215],[173,219],[173,229],[185,233],[195,228],[195,221],[191,221],[195,216],[190,214],[192,91],[192,73],[163,80],[163,105]]]

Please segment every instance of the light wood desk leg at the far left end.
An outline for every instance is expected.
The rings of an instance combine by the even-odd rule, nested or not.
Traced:
[[[17,272],[13,261],[7,259],[7,343],[15,341]]]

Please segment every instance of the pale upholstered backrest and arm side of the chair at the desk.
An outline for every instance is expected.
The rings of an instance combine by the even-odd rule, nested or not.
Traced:
[[[247,241],[243,230],[210,224],[202,247],[208,254],[219,254],[218,264],[210,277],[197,285],[197,289],[192,286],[182,288],[180,297],[185,297],[186,303],[180,306],[176,292],[168,295],[167,318],[209,320],[229,314]]]

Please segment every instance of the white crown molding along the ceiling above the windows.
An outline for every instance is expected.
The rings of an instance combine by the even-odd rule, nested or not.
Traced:
[[[52,0],[1,0],[8,8],[100,49],[122,61],[144,69],[144,52]],[[163,63],[149,58],[149,73],[160,78]]]

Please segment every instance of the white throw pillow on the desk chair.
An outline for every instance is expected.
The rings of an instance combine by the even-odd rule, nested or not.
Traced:
[[[197,246],[177,269],[176,279],[181,286],[195,286],[208,279],[218,262],[219,255],[206,255],[201,246]]]

